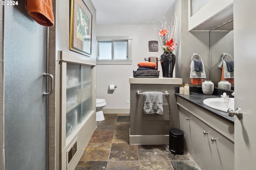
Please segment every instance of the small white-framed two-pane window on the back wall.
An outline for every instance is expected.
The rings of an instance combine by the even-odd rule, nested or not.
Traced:
[[[132,64],[131,37],[97,37],[97,64]]]

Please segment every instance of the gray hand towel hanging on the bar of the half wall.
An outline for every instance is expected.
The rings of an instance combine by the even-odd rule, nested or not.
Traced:
[[[162,92],[143,92],[143,111],[145,114],[164,113],[163,109],[163,93]]]

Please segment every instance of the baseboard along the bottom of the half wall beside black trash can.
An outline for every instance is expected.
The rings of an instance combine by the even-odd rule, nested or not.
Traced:
[[[169,145],[169,135],[131,135],[130,145]]]

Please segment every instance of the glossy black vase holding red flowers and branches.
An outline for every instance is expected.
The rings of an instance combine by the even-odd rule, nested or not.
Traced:
[[[176,61],[176,56],[173,53],[164,52],[160,56],[160,63],[162,66],[163,77],[172,78],[175,61]]]

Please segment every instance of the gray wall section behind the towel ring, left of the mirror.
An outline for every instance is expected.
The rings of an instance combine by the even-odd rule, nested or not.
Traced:
[[[183,82],[190,82],[190,63],[193,53],[198,53],[204,62],[206,79],[210,78],[209,58],[209,32],[188,31],[188,1],[176,0],[175,10],[180,12],[181,31],[178,42],[176,77],[182,78]],[[191,84],[190,84],[191,85]],[[192,85],[191,85],[192,86]]]

